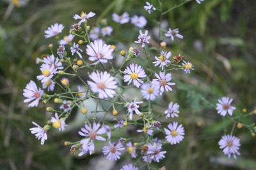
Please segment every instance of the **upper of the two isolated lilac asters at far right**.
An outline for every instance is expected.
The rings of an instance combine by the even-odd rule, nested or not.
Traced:
[[[233,99],[230,97],[221,97],[221,99],[218,99],[218,102],[216,105],[216,110],[218,111],[218,114],[225,117],[228,113],[228,115],[232,116],[233,111],[236,110],[236,107],[231,106]]]

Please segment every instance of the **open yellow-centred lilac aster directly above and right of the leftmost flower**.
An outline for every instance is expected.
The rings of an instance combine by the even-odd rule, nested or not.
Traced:
[[[57,71],[56,67],[54,67],[53,65],[49,66],[48,64],[42,64],[40,70],[42,74],[36,76],[36,78],[38,81],[41,81],[42,83],[46,82],[47,80],[50,80]]]

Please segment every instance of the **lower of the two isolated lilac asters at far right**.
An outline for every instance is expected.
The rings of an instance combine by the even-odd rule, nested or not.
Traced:
[[[236,136],[232,136],[230,134],[224,135],[221,137],[219,143],[220,149],[222,149],[225,155],[228,155],[228,158],[234,157],[236,159],[236,155],[240,155],[238,152],[240,146],[240,139]]]

